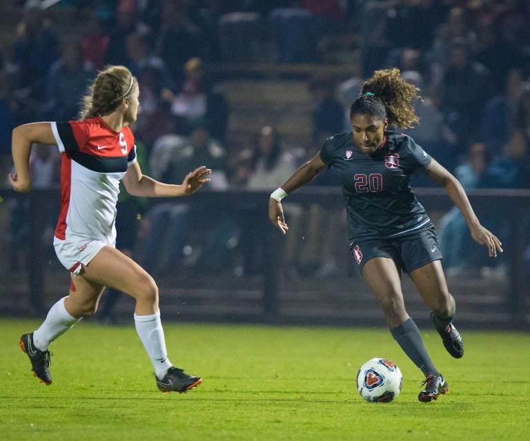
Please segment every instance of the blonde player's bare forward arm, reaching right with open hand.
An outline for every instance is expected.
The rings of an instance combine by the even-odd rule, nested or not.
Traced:
[[[139,197],[188,196],[210,182],[210,178],[208,178],[210,173],[212,173],[210,168],[202,166],[188,173],[180,185],[164,184],[141,173],[139,164],[135,162],[127,168],[124,186],[127,193]]]

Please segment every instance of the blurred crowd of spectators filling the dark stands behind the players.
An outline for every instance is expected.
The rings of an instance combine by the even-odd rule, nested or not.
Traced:
[[[181,182],[187,170],[206,164],[215,171],[212,190],[272,190],[312,157],[326,137],[349,130],[346,109],[363,78],[379,68],[397,67],[424,98],[416,104],[420,126],[411,135],[466,188],[530,188],[528,1],[63,0],[50,8],[43,5],[54,2],[16,3],[20,21],[0,54],[4,176],[11,164],[14,126],[75,119],[79,98],[97,70],[121,64],[141,88],[135,136],[150,175]],[[50,13],[53,8],[73,11],[69,17],[79,23],[79,37],[68,32],[72,23]],[[321,75],[307,80],[315,101],[311,139],[304,146],[287,145],[271,123],[255,134],[252,145],[230,146],[230,103],[215,89],[208,66],[272,60],[314,63],[317,71],[340,35],[357,41],[360,77],[341,84]],[[42,187],[57,184],[58,155],[40,151],[32,159],[34,179],[39,176]],[[336,182],[327,177],[315,185]],[[12,210],[25,213],[26,203],[17,199]],[[293,216],[298,209],[291,207]],[[159,271],[189,257],[186,245],[194,214],[187,206],[144,204],[133,210],[145,210],[141,215],[153,227],[138,232],[146,242],[146,264],[168,237],[177,255],[162,260]],[[12,243],[27,234],[20,219],[10,226]],[[487,222],[509,240],[505,220],[491,217]],[[170,229],[168,236],[161,235],[158,225]],[[222,264],[216,260],[219,244],[230,246],[238,231],[248,235],[254,227],[228,216],[221,219],[202,244],[208,250],[202,257],[211,258],[202,263]],[[446,266],[458,272],[472,264],[486,265],[469,262],[462,253],[471,239],[467,242],[458,213],[447,213],[438,228]],[[238,271],[252,271],[252,259],[245,262]]]

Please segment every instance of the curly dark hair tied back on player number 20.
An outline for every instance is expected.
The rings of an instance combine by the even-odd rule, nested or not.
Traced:
[[[388,119],[389,126],[412,128],[420,121],[414,112],[412,102],[421,100],[418,89],[402,79],[397,68],[376,70],[373,76],[362,84],[359,97],[351,105],[353,115],[375,115]]]

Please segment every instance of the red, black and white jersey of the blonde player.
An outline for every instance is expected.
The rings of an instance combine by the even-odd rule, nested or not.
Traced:
[[[51,124],[62,153],[55,237],[114,244],[119,181],[136,162],[133,133],[128,127],[116,132],[100,117]]]

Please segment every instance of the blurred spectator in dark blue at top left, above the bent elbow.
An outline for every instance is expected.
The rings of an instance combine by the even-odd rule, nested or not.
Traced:
[[[46,77],[59,57],[54,26],[40,8],[40,1],[28,0],[12,45],[12,75],[15,97],[23,119],[34,119],[37,106],[46,99]]]

